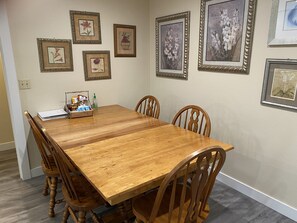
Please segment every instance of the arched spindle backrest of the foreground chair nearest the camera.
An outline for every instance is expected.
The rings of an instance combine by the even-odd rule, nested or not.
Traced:
[[[162,200],[166,192],[167,195],[170,194],[170,199],[167,197],[170,202],[166,204],[168,222],[196,223],[206,207],[216,176],[225,159],[225,151],[215,146],[196,151],[177,164],[161,183],[149,222],[154,222],[160,205],[164,205]],[[177,187],[182,187],[179,193]],[[173,209],[176,210],[175,214]]]

